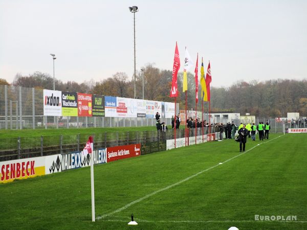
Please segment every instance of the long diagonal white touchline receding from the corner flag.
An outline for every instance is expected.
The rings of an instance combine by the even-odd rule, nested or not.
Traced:
[[[273,141],[273,140],[277,139],[278,137],[280,137],[280,136],[277,136],[277,137],[275,137],[274,139],[272,139],[272,140],[270,140],[270,141]],[[270,142],[270,141],[267,141],[267,142]],[[261,143],[261,144],[265,144],[265,143],[267,143],[267,142],[264,142],[264,143]],[[255,145],[255,146],[252,147],[251,149],[249,149],[249,150],[247,150],[247,151],[245,151],[245,152],[242,152],[242,153],[240,153],[240,154],[238,154],[238,155],[236,155],[236,156],[233,156],[233,157],[229,158],[228,160],[225,160],[225,162],[222,162],[222,163],[225,164],[225,163],[229,162],[230,160],[232,160],[232,159],[234,159],[234,158],[237,158],[237,157],[239,157],[239,156],[241,156],[241,155],[243,155],[243,154],[245,154],[245,153],[251,151],[252,149],[256,148],[257,146],[258,146],[258,145]],[[208,169],[205,169],[205,170],[203,170],[203,171],[200,171],[200,172],[198,172],[198,173],[195,173],[194,175],[191,175],[191,176],[189,176],[189,177],[187,177],[187,178],[185,178],[185,179],[183,179],[183,180],[180,180],[180,181],[178,181],[178,182],[176,182],[176,183],[173,183],[172,185],[169,185],[169,186],[167,186],[167,187],[165,187],[165,188],[162,188],[162,189],[159,189],[159,190],[157,190],[157,191],[155,191],[155,192],[149,193],[149,194],[147,194],[146,196],[143,196],[143,197],[141,197],[141,198],[139,198],[139,199],[137,199],[137,200],[134,200],[134,201],[132,201],[132,202],[126,204],[125,206],[122,206],[121,208],[119,208],[119,209],[117,209],[117,210],[115,210],[115,211],[113,211],[113,212],[111,212],[111,213],[106,213],[106,214],[103,214],[102,216],[98,216],[96,219],[97,219],[97,220],[100,220],[100,219],[102,219],[102,218],[104,218],[104,217],[112,216],[112,215],[115,214],[115,213],[119,213],[119,212],[121,212],[121,211],[123,211],[123,210],[129,208],[129,206],[131,206],[131,205],[133,205],[133,204],[139,203],[139,202],[143,201],[144,199],[147,199],[148,197],[151,197],[151,196],[153,196],[153,195],[156,195],[157,193],[160,193],[160,192],[163,192],[163,191],[165,191],[165,190],[168,190],[168,189],[170,189],[170,188],[172,188],[172,187],[174,187],[174,186],[178,186],[178,185],[180,185],[181,183],[183,183],[183,182],[185,182],[185,181],[187,181],[187,180],[189,180],[189,179],[192,179],[192,178],[194,178],[195,176],[198,176],[198,175],[200,175],[200,174],[202,174],[202,173],[204,173],[204,172],[207,172],[207,171],[209,171],[210,169],[214,169],[214,168],[217,167],[217,166],[220,166],[220,164],[214,165],[214,166],[212,166],[212,167],[210,167],[210,168],[208,168]]]

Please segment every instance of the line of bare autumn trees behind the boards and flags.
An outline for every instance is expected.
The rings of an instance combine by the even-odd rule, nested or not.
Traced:
[[[172,72],[160,70],[153,64],[147,64],[143,72],[136,76],[136,98],[142,99],[144,78],[144,99],[173,102],[169,97]],[[185,108],[185,94],[182,93],[183,73],[178,73],[180,109]],[[214,81],[214,76],[213,76]],[[35,72],[29,76],[16,74],[12,83],[0,79],[0,84],[13,86],[53,89],[53,77],[46,73]],[[55,89],[61,91],[82,92],[115,97],[134,97],[134,80],[129,80],[126,73],[118,72],[101,81],[85,80],[62,82],[55,79]],[[199,85],[199,103],[202,108],[201,86]],[[188,73],[188,109],[195,110],[194,75]],[[208,102],[204,102],[204,111],[208,111]],[[257,117],[287,117],[287,112],[300,112],[307,116],[307,81],[306,80],[267,80],[264,82],[238,81],[230,87],[211,87],[211,111],[250,113]]]

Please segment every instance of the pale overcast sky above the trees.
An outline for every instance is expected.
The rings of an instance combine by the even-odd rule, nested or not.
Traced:
[[[307,78],[307,1],[0,0],[0,78],[100,81],[147,63],[171,70],[176,41],[211,63],[212,85]],[[200,65],[201,63],[199,63]],[[183,71],[182,67],[180,71]],[[190,70],[193,72],[193,70]]]

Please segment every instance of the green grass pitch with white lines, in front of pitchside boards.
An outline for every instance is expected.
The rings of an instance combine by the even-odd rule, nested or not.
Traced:
[[[306,134],[133,157],[0,185],[2,229],[306,229]],[[257,146],[257,144],[260,144]],[[241,155],[240,155],[241,154]],[[223,163],[219,165],[218,163]],[[128,226],[131,213],[139,223]],[[255,215],[297,221],[255,221]]]

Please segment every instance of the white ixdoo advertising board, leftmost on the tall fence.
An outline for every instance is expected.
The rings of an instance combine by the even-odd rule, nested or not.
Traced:
[[[62,92],[57,90],[43,90],[43,115],[62,116]]]

